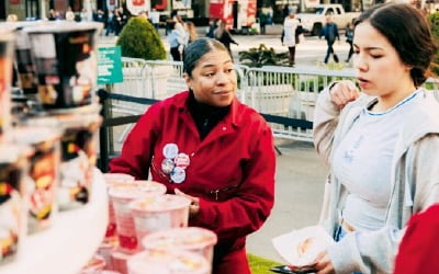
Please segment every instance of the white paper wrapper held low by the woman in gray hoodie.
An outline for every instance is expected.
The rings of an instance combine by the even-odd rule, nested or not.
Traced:
[[[323,227],[312,226],[278,236],[272,243],[283,260],[302,267],[311,265],[334,240]]]

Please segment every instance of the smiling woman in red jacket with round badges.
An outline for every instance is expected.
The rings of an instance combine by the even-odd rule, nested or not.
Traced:
[[[250,273],[246,236],[261,227],[274,199],[272,132],[235,96],[236,73],[227,48],[211,38],[184,52],[189,91],[155,105],[128,135],[111,172],[165,184],[192,199],[189,226],[218,237],[213,273]]]

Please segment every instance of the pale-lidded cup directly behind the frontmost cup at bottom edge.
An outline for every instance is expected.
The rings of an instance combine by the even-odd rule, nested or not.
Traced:
[[[187,250],[203,255],[213,262],[216,235],[200,227],[172,228],[145,236],[142,244],[148,251]]]

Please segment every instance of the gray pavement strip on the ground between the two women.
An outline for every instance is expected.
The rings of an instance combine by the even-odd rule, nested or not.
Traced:
[[[262,228],[247,239],[247,252],[285,263],[271,239],[292,229],[316,225],[328,168],[313,144],[277,139],[275,202]]]

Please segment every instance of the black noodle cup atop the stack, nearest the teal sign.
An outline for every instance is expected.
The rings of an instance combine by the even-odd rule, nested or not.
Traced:
[[[37,98],[46,110],[65,110],[94,102],[101,23],[57,21],[25,27],[37,75]]]

